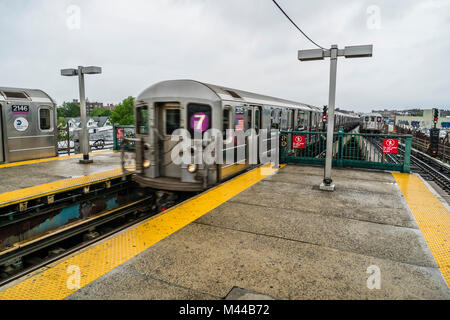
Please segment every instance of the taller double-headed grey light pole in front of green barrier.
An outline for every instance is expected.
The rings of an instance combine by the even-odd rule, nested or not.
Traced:
[[[327,130],[327,154],[325,159],[324,179],[320,185],[320,190],[334,191],[335,185],[331,179],[331,167],[333,161],[333,134],[334,134],[334,105],[336,101],[336,71],[337,58],[364,58],[372,56],[372,45],[351,46],[345,49],[338,49],[337,45],[332,45],[331,49],[299,50],[298,59],[300,61],[323,60],[330,58],[330,92],[328,98],[328,130]]]

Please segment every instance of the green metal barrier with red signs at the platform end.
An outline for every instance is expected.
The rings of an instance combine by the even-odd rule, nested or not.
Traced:
[[[326,132],[281,131],[280,163],[325,163]],[[333,136],[333,166],[410,172],[411,135]]]

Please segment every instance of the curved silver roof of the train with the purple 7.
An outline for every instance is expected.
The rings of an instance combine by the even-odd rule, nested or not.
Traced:
[[[174,98],[174,94],[180,97],[195,97],[206,100],[220,100],[242,102],[248,104],[265,104],[283,107],[297,107],[319,112],[320,109],[305,103],[290,101],[244,90],[228,88],[224,86],[204,83],[195,80],[168,80],[152,85],[144,90],[137,100]]]

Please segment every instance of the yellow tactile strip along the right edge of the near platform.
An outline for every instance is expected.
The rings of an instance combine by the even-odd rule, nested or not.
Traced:
[[[392,173],[450,286],[450,212],[415,175]]]

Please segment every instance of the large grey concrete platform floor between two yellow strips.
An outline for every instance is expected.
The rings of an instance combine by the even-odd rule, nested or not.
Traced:
[[[449,299],[392,174],[333,174],[323,192],[321,168],[286,166],[67,299]]]

